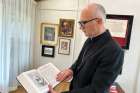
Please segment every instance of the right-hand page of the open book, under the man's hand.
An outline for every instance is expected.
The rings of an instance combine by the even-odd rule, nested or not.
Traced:
[[[52,63],[48,63],[38,68],[39,73],[46,79],[52,87],[55,87],[58,83],[56,76],[60,72]]]

